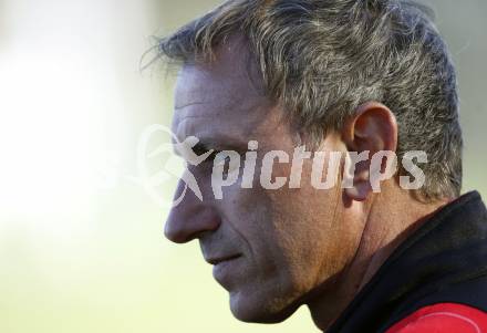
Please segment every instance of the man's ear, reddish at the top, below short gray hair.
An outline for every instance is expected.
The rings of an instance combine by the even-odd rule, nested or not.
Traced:
[[[351,200],[363,201],[372,191],[372,157],[377,152],[395,153],[397,149],[395,116],[387,106],[381,103],[364,103],[345,121],[341,135],[349,150],[349,156],[355,156],[355,160],[352,158],[350,162],[349,158],[348,166],[345,166],[345,174],[351,177],[351,180],[353,179],[353,184],[349,184],[344,192]],[[388,158],[384,163],[381,157],[377,171],[385,173],[388,163]]]

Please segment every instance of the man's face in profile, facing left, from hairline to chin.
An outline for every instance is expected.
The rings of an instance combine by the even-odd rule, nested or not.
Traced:
[[[302,144],[284,113],[261,94],[256,87],[259,83],[249,80],[239,48],[221,52],[213,65],[186,65],[180,71],[173,132],[179,142],[196,136],[208,149],[237,150],[242,157],[248,142],[257,141],[253,186],[241,188],[241,166],[238,180],[224,188],[222,199],[215,199],[213,160],[189,167],[203,201],[188,191],[173,208],[166,236],[176,242],[199,240],[203,256],[215,264],[214,277],[229,292],[238,319],[278,322],[343,270],[358,238],[351,231],[355,227],[343,219],[340,186],[330,190],[311,187],[311,160],[304,160],[300,188],[260,186],[263,155],[284,150],[292,158],[294,147]],[[329,135],[320,149],[344,147]],[[289,179],[290,174],[290,163],[274,164],[272,178]]]

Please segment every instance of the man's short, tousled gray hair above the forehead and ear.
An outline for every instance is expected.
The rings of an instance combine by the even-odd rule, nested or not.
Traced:
[[[300,132],[319,142],[362,103],[381,102],[397,119],[398,158],[408,150],[428,156],[417,197],[459,195],[456,75],[428,8],[410,0],[228,0],[159,40],[158,50],[177,62],[211,62],[235,34],[245,38],[266,94]]]

